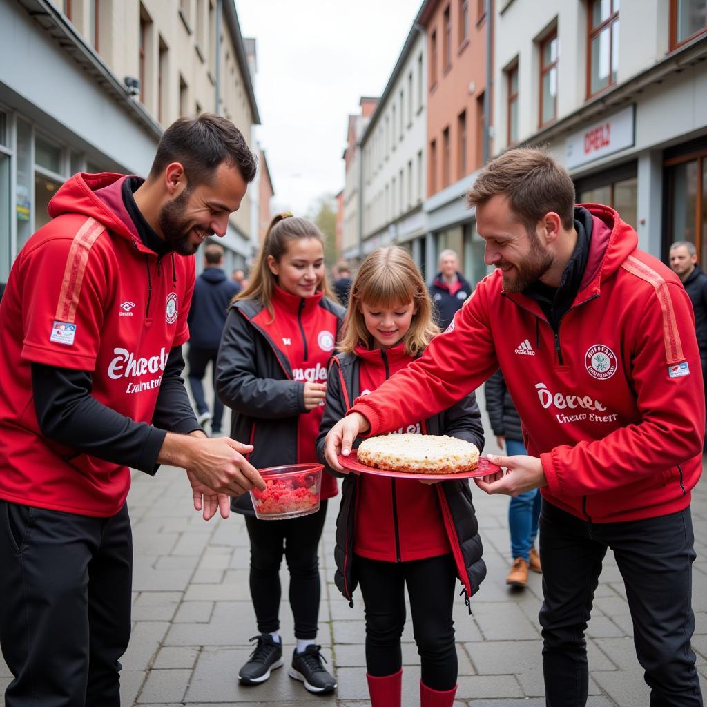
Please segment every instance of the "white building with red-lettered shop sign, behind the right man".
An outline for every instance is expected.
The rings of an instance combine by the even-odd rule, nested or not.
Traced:
[[[704,0],[498,0],[494,151],[544,144],[578,201],[707,262]]]

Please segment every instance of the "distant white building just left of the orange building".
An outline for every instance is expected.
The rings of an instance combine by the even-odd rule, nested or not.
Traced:
[[[426,194],[425,35],[414,24],[387,86],[361,136],[362,255],[403,245],[425,263]]]

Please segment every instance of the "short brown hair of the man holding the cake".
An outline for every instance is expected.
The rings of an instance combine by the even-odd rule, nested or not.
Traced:
[[[479,206],[497,194],[508,197],[515,218],[532,233],[549,211],[559,215],[563,228],[572,228],[574,183],[542,149],[519,147],[491,160],[467,191],[467,204]]]

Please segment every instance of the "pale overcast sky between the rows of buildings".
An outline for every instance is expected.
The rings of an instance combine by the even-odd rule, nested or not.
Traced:
[[[236,0],[257,40],[256,135],[275,207],[305,214],[344,186],[346,124],[385,88],[421,0]]]

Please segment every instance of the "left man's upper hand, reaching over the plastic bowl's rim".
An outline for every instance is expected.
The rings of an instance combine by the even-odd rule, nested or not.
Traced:
[[[240,496],[253,488],[265,488],[260,474],[243,457],[252,449],[252,445],[228,437],[209,439],[168,432],[157,460],[187,469],[212,492]]]

